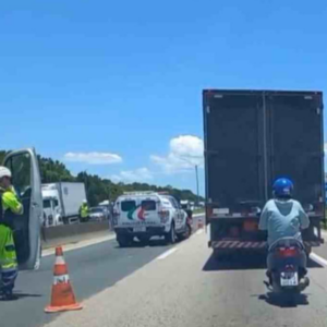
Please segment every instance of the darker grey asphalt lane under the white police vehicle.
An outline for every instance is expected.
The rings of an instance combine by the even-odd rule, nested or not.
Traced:
[[[160,239],[150,241],[149,246],[134,245],[120,249],[113,239],[64,253],[76,298],[84,300],[114,286],[171,247]],[[39,270],[20,272],[15,287],[19,299],[0,302],[0,326],[36,327],[56,317],[44,313],[50,301],[53,264],[55,255],[47,255]]]

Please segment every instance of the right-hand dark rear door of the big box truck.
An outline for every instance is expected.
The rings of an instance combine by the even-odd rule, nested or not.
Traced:
[[[289,177],[294,197],[315,211],[324,204],[323,101],[317,93],[274,93],[266,97],[269,117],[269,180]],[[268,185],[268,187],[270,187]]]

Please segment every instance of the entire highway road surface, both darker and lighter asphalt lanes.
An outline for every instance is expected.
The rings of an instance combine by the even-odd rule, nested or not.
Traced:
[[[217,263],[203,230],[174,246],[153,245],[119,249],[112,240],[68,252],[74,290],[85,307],[65,314],[43,312],[52,281],[53,256],[47,256],[39,271],[20,276],[22,296],[0,303],[0,322],[9,327],[327,326],[327,271],[314,261],[307,291],[284,303],[263,283],[265,257]]]

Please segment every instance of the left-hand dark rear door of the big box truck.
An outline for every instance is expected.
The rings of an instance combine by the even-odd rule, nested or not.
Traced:
[[[204,110],[208,202],[225,214],[263,204],[263,97],[205,90]]]

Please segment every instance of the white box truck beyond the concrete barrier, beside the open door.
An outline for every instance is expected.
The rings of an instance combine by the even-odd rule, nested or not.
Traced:
[[[86,198],[84,183],[59,182],[43,184],[44,226],[72,223],[78,220],[78,209]]]

